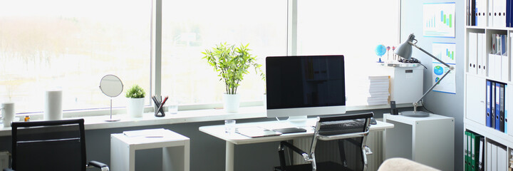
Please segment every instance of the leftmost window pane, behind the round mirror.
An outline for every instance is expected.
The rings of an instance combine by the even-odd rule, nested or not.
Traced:
[[[43,110],[45,90],[63,109],[106,108],[98,86],[115,74],[150,91],[151,1],[0,1],[0,101]],[[125,106],[122,95],[114,106]]]

